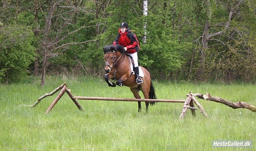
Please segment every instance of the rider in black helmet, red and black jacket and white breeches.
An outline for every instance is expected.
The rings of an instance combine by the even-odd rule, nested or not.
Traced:
[[[139,42],[134,33],[132,33],[129,29],[129,26],[126,22],[122,22],[119,29],[119,34],[117,35],[114,45],[119,44],[124,46],[123,50],[127,52],[130,56],[132,56],[134,61],[135,68],[135,76],[137,84],[143,83],[141,77],[139,77],[139,64],[138,64],[138,55],[137,51],[139,51]]]

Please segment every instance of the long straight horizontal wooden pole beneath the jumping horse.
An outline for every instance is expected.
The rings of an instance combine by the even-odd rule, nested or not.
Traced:
[[[172,102],[184,103],[185,100],[163,100],[163,99],[122,99],[122,98],[104,98],[104,97],[74,97],[78,100],[105,100],[105,101],[139,101],[139,102]]]

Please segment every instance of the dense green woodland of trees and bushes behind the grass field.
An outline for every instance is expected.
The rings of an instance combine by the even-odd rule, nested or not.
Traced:
[[[102,47],[127,22],[153,79],[255,83],[255,8],[255,0],[1,0],[0,82],[103,76]]]

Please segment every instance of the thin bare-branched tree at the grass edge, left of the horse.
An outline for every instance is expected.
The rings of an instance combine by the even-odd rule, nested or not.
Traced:
[[[78,28],[73,28],[76,25],[75,15],[78,12],[91,12],[86,11],[83,8],[77,6],[78,1],[62,1],[62,0],[50,0],[49,11],[47,12],[46,22],[44,26],[44,35],[42,39],[42,75],[41,86],[45,84],[46,63],[49,57],[55,57],[64,51],[64,48],[74,44],[85,44],[89,41],[83,42],[66,42],[70,36],[77,33],[83,28],[92,26],[86,26],[82,24]],[[54,14],[55,13],[55,14]],[[52,24],[53,23],[53,24]],[[95,25],[93,25],[95,26]],[[57,50],[60,50],[59,52]]]

